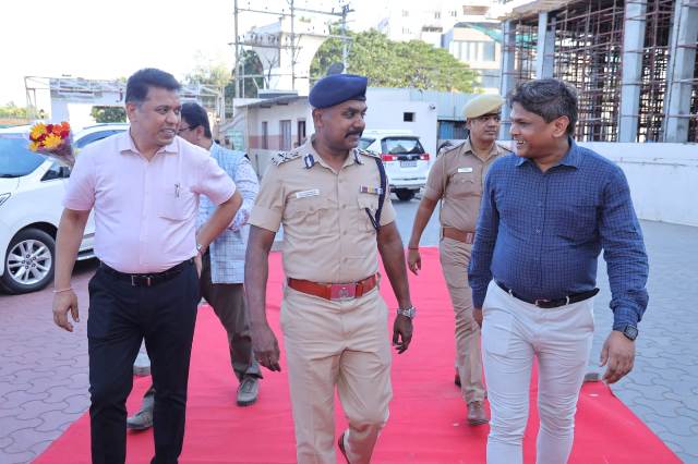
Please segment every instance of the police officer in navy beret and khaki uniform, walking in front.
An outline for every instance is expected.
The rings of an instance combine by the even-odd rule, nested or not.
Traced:
[[[399,308],[398,353],[409,346],[414,308],[405,252],[380,158],[358,150],[364,130],[366,78],[330,75],[310,93],[315,134],[279,154],[262,180],[249,223],[245,290],[260,364],[279,368],[265,314],[268,253],[284,224],[280,322],[299,463],[335,463],[334,396],[349,428],[338,441],[347,462],[369,463],[388,418],[388,309],[378,294],[378,257]]]

